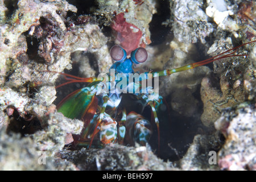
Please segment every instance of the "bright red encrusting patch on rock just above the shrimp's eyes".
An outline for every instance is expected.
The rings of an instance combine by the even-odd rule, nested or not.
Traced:
[[[131,51],[139,47],[142,31],[134,24],[127,23],[124,15],[124,13],[119,13],[115,16],[112,29],[116,32],[116,42],[119,42],[129,55]]]

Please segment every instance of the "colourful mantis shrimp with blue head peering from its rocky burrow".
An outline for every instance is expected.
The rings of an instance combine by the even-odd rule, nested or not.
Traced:
[[[76,144],[90,148],[92,146],[102,147],[104,144],[113,142],[123,144],[126,140],[129,141],[128,143],[139,143],[144,146],[152,135],[152,126],[155,125],[159,149],[161,123],[158,118],[158,110],[164,102],[158,94],[158,77],[170,76],[227,57],[249,56],[235,53],[238,48],[254,42],[256,40],[183,67],[144,73],[134,73],[132,65],[146,61],[146,49],[139,47],[132,51],[130,57],[127,58],[125,49],[115,45],[110,49],[110,56],[114,60],[114,64],[110,67],[109,73],[89,78],[60,73],[68,81],[56,88],[73,82],[88,82],[89,85],[66,96],[57,105],[57,110],[63,113],[65,117],[78,118],[84,121],[84,130],[78,137]],[[154,86],[151,82],[153,79]],[[148,121],[141,113],[135,111],[127,113],[127,105],[120,104],[125,94],[131,94],[136,98],[135,105],[142,105],[141,113],[147,106],[150,106],[151,120],[154,122]]]

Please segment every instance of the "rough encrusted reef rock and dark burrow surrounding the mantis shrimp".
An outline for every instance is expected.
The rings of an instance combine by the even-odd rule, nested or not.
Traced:
[[[234,53],[249,56],[159,77],[159,148],[155,125],[146,146],[73,148],[84,122],[56,105],[87,84],[55,88],[67,81],[59,73],[108,73],[115,44],[147,50],[139,72],[209,59],[255,40],[255,9],[249,0],[0,0],[0,170],[255,170],[255,43]],[[141,114],[150,120],[150,107]]]

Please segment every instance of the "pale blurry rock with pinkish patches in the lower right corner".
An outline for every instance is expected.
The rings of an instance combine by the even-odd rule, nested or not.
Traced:
[[[227,111],[215,123],[226,141],[218,152],[218,166],[226,170],[256,169],[256,109],[255,105],[241,104]]]

